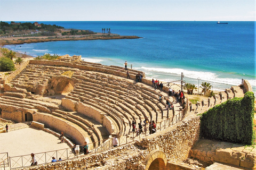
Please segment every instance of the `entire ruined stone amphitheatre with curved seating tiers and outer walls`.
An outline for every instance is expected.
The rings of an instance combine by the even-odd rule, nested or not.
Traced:
[[[55,135],[64,132],[70,147],[87,141],[90,151],[89,155],[62,154],[63,161],[58,163],[47,162],[46,158],[43,160],[37,155],[38,165],[33,167],[9,158],[11,168],[202,168],[202,164],[189,157],[209,164],[221,162],[236,166],[231,169],[256,167],[253,147],[225,142],[205,147],[201,143],[202,149],[196,145],[200,125],[197,114],[227,99],[243,97],[244,91],[252,91],[246,80],[242,84],[244,91],[231,87],[197,104],[191,104],[188,99],[182,104],[174,103],[173,116],[165,109],[169,87],[164,86],[163,92],[154,90],[151,80],[145,78],[135,83],[135,75],[145,73],[128,70],[130,79],[126,78],[122,67],[84,62],[81,56],[65,55],[54,61],[27,61],[9,77],[0,80],[2,119],[31,122],[29,125]],[[165,99],[159,100],[162,95]],[[136,135],[132,132],[132,121],[137,122],[137,128],[141,123],[144,130],[145,117],[156,122],[157,132],[149,134],[147,125],[147,132]],[[114,136],[118,138],[115,148],[112,145]],[[30,160],[30,156],[26,159]]]

